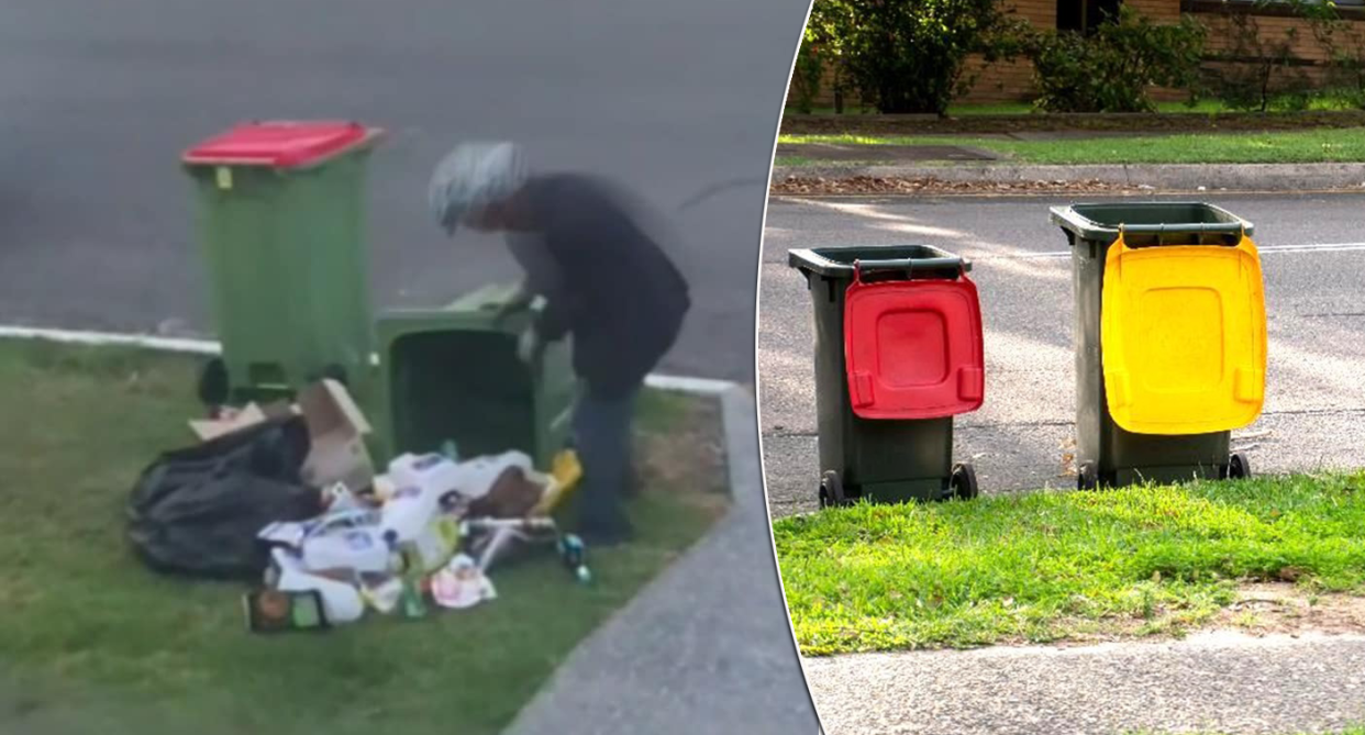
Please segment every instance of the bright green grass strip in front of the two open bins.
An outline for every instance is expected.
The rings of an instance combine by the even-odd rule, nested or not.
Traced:
[[[1365,472],[859,505],[774,524],[805,655],[1179,633],[1239,582],[1365,592]]]

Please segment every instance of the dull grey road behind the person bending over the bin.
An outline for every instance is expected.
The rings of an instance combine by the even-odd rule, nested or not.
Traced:
[[[752,380],[755,248],[805,0],[5,0],[0,320],[207,331],[179,154],[250,119],[389,130],[374,160],[377,307],[444,304],[516,267],[430,221],[470,138],[607,173],[673,217],[696,308],[662,370]],[[737,183],[684,213],[678,205]]]

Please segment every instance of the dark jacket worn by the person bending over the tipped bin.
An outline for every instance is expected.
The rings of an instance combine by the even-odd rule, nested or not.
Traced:
[[[673,346],[688,285],[612,184],[561,173],[531,179],[526,192],[539,237],[517,256],[546,299],[538,330],[546,340],[572,334],[573,370],[588,390],[621,395]],[[551,266],[530,267],[534,252]]]

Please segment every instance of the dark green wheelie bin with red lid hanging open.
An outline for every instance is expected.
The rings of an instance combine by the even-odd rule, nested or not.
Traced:
[[[793,250],[815,311],[820,507],[975,498],[953,416],[981,404],[971,263],[928,245]]]

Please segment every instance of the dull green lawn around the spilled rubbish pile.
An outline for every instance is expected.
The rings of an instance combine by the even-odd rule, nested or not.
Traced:
[[[475,610],[250,634],[243,586],[156,575],[123,537],[138,472],[191,440],[195,370],[180,356],[0,341],[0,732],[497,732],[725,507],[719,468],[651,461],[631,509],[640,540],[588,550],[594,586],[546,555],[494,570],[498,599]],[[714,417],[710,404],[651,393],[644,446],[685,453]]]

